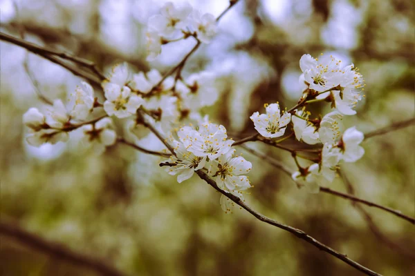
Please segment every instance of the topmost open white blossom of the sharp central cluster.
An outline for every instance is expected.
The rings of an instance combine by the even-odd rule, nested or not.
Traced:
[[[178,137],[188,151],[211,160],[224,155],[234,143],[232,140],[226,140],[228,135],[224,126],[210,123],[202,124],[199,131],[183,127],[178,131]]]

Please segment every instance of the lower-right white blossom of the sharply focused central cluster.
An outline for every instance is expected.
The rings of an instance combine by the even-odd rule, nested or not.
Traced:
[[[219,188],[241,197],[241,191],[251,187],[246,174],[252,169],[252,164],[241,156],[234,157],[234,152],[232,149],[221,155],[210,173]]]

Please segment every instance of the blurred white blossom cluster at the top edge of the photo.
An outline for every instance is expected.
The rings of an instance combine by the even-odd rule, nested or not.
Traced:
[[[167,2],[160,8],[160,14],[149,18],[147,59],[156,59],[161,53],[161,46],[167,43],[191,36],[203,43],[209,43],[215,34],[216,19],[212,14],[203,14],[187,2],[182,6]]]

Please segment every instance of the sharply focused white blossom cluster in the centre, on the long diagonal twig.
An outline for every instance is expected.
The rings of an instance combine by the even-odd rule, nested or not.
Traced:
[[[252,164],[241,156],[235,155],[234,141],[227,139],[224,126],[204,122],[195,129],[183,126],[177,132],[178,140],[170,137],[176,156],[170,157],[165,164],[170,175],[177,175],[180,183],[189,179],[195,170],[206,170],[216,180],[219,188],[237,197],[243,198],[243,191],[250,188],[246,174]],[[221,206],[230,211],[231,201],[221,197]]]

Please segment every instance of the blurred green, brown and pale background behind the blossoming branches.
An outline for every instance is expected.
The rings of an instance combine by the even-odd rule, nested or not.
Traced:
[[[414,117],[415,7],[411,0],[241,0],[219,23],[184,74],[208,70],[220,103],[205,110],[235,134],[252,133],[252,112],[297,99],[299,58],[320,52],[355,63],[366,98],[346,126],[369,132]],[[149,16],[165,1],[0,0],[1,31],[90,59],[102,70],[128,61],[136,70],[165,72],[193,46],[180,41],[145,59]],[[225,0],[192,0],[219,15]],[[24,142],[21,116],[42,106],[24,63],[44,95],[64,98],[80,82],[71,72],[0,42],[1,221],[77,252],[104,259],[127,275],[360,275],[347,264],[238,208],[226,215],[219,193],[196,176],[178,184],[158,167],[160,158],[123,145],[96,156],[71,144],[33,148]],[[317,108],[321,108],[320,110]],[[324,105],[315,112],[327,112]],[[316,114],[317,114],[316,113]],[[243,136],[243,135],[242,135]],[[415,215],[414,128],[364,142],[365,156],[344,164],[356,195]],[[158,149],[154,137],[138,143]],[[249,144],[284,161],[277,148]],[[239,150],[243,152],[243,150]],[[266,161],[252,162],[255,188],[246,201],[259,212],[295,226],[383,275],[411,275],[414,226],[382,210],[299,190]],[[341,179],[330,188],[347,190]],[[375,235],[373,224],[381,235]],[[1,275],[98,275],[53,255],[1,237]],[[385,238],[387,241],[385,242]],[[395,246],[388,246],[388,243]],[[405,251],[405,252],[403,252]]]

